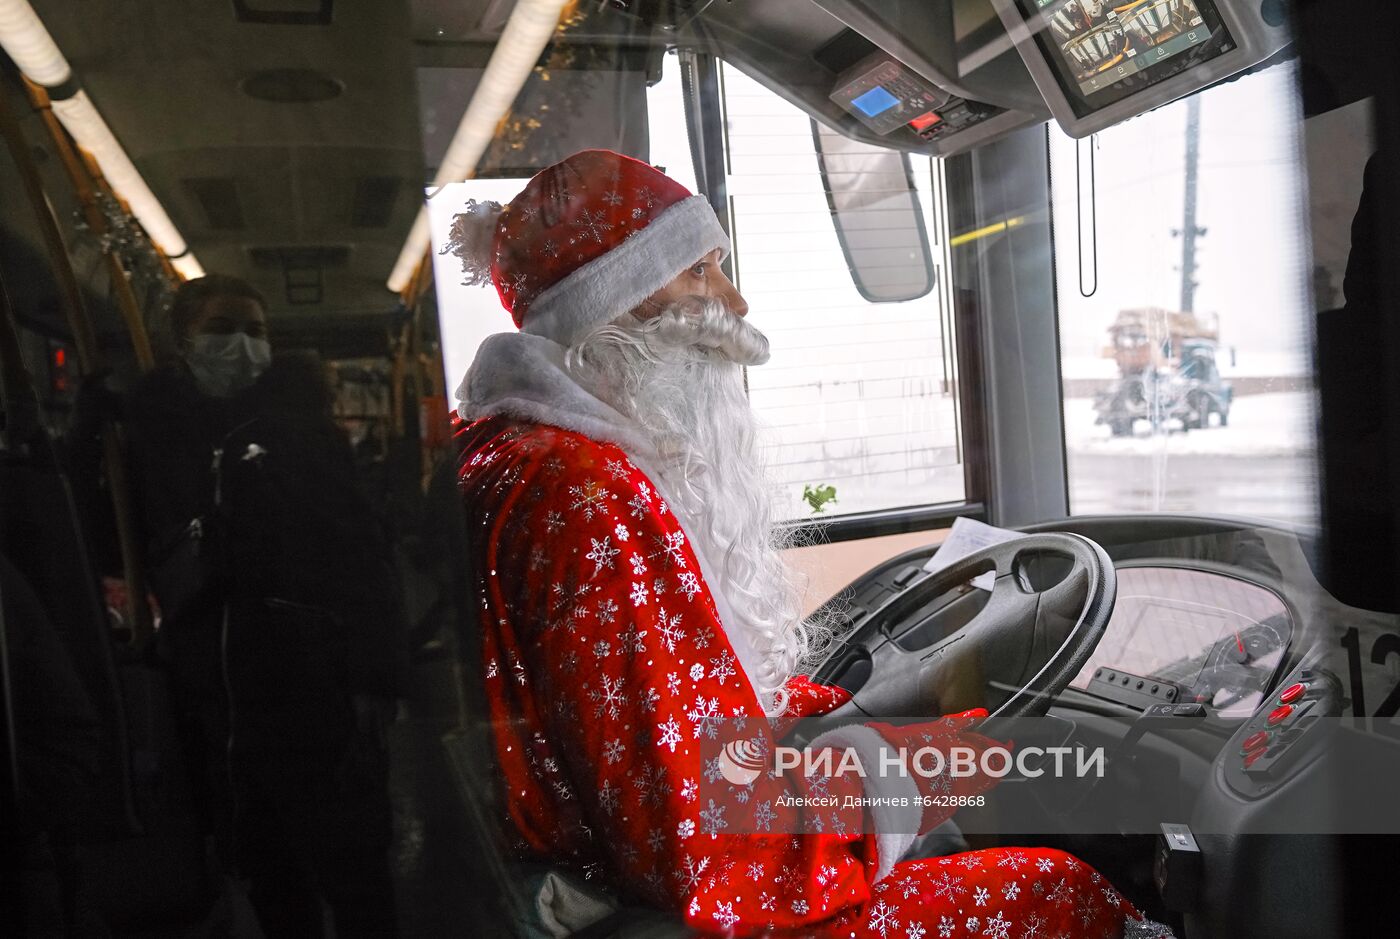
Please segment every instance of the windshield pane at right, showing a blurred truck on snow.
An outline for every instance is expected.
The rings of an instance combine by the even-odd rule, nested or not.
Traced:
[[[1317,525],[1296,81],[1050,130],[1072,512]]]

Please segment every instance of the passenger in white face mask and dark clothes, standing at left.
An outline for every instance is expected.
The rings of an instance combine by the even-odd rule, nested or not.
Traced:
[[[213,861],[270,939],[393,935],[384,715],[402,656],[388,549],[319,362],[262,297],[181,285],[165,361],[122,406],[155,649]],[[81,409],[80,409],[81,410]]]

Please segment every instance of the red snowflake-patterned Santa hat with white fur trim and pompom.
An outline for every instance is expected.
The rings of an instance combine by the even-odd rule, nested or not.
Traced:
[[[640,160],[582,150],[508,206],[468,202],[442,252],[496,285],[525,333],[571,346],[634,309],[729,238],[704,196]]]

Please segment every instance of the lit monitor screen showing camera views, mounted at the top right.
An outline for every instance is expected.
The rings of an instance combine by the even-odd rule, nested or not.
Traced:
[[[1019,0],[1082,115],[1233,48],[1211,0]]]

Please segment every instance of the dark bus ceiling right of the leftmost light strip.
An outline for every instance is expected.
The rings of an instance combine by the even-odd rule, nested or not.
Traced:
[[[34,6],[206,270],[252,280],[279,311],[391,306],[423,181],[402,4],[339,3],[329,27],[239,14],[300,0]],[[288,264],[319,274],[304,302]]]

